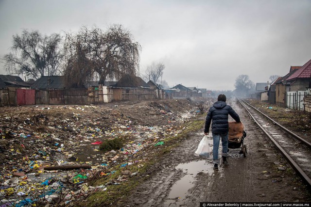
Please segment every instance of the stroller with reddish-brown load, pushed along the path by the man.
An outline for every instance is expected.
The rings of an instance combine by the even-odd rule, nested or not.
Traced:
[[[246,137],[246,132],[244,131],[244,126],[242,122],[229,122],[229,134],[228,134],[228,152],[239,152],[246,157],[246,144],[244,144],[244,138]],[[236,150],[241,147],[241,150]]]

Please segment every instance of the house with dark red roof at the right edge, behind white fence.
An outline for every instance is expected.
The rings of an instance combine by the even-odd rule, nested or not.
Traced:
[[[305,91],[309,88],[311,76],[311,60],[297,69],[286,81],[290,81],[290,91]]]

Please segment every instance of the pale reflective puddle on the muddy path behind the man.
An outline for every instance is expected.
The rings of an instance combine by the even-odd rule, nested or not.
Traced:
[[[191,189],[196,181],[198,173],[205,173],[212,175],[214,173],[213,165],[208,159],[192,161],[189,163],[181,163],[176,166],[176,170],[183,170],[186,174],[178,180],[168,195],[164,206],[179,206],[183,204],[183,200],[187,197],[187,192]]]

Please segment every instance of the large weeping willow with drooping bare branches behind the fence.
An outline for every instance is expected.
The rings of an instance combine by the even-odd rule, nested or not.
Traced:
[[[132,34],[121,25],[112,25],[107,31],[82,27],[76,34],[66,34],[64,75],[67,87],[82,86],[94,76],[104,84],[108,79],[119,80],[124,75],[136,75],[140,49]]]

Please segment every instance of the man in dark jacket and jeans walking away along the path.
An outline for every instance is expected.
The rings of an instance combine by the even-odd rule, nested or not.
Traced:
[[[212,122],[212,136],[213,136],[213,163],[214,170],[218,170],[218,164],[220,160],[218,159],[218,149],[220,138],[222,138],[223,145],[223,164],[228,164],[228,114],[236,121],[240,122],[239,115],[232,109],[231,106],[226,104],[226,97],[224,94],[220,94],[217,101],[209,108],[207,112],[207,117],[205,121],[204,134],[208,135],[208,130],[210,123]]]

